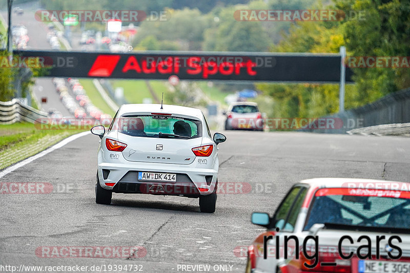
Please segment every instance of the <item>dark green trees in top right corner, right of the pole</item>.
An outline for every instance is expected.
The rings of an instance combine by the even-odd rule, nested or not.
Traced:
[[[363,20],[346,20],[342,24],[350,56],[409,56],[409,0],[335,0],[336,7],[348,13],[364,11]],[[410,86],[408,68],[354,69],[359,99],[373,101]]]

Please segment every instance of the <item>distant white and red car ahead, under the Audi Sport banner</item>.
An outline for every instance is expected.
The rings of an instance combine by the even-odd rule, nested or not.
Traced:
[[[263,131],[264,121],[256,102],[240,101],[231,103],[228,111],[225,130]]]

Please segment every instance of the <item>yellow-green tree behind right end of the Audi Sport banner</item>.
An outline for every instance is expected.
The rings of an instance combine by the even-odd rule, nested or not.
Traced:
[[[274,52],[337,53],[344,45],[339,22],[297,22],[271,49]],[[275,117],[319,117],[339,110],[339,86],[312,83],[260,83],[257,89],[272,96]],[[356,107],[354,86],[346,86],[346,108]]]

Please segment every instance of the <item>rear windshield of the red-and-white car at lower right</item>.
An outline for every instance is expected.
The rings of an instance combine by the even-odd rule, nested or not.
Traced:
[[[392,191],[387,192],[392,193]],[[400,192],[393,193],[400,194]],[[409,228],[410,199],[392,197],[392,195],[380,196],[380,194],[378,196],[337,194],[316,196],[304,230],[309,230],[315,223]]]

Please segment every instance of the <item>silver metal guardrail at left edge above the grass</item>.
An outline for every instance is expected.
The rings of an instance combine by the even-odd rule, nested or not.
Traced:
[[[22,104],[17,99],[0,101],[0,124],[12,124],[17,121],[34,123],[36,119],[45,117],[46,112]]]

